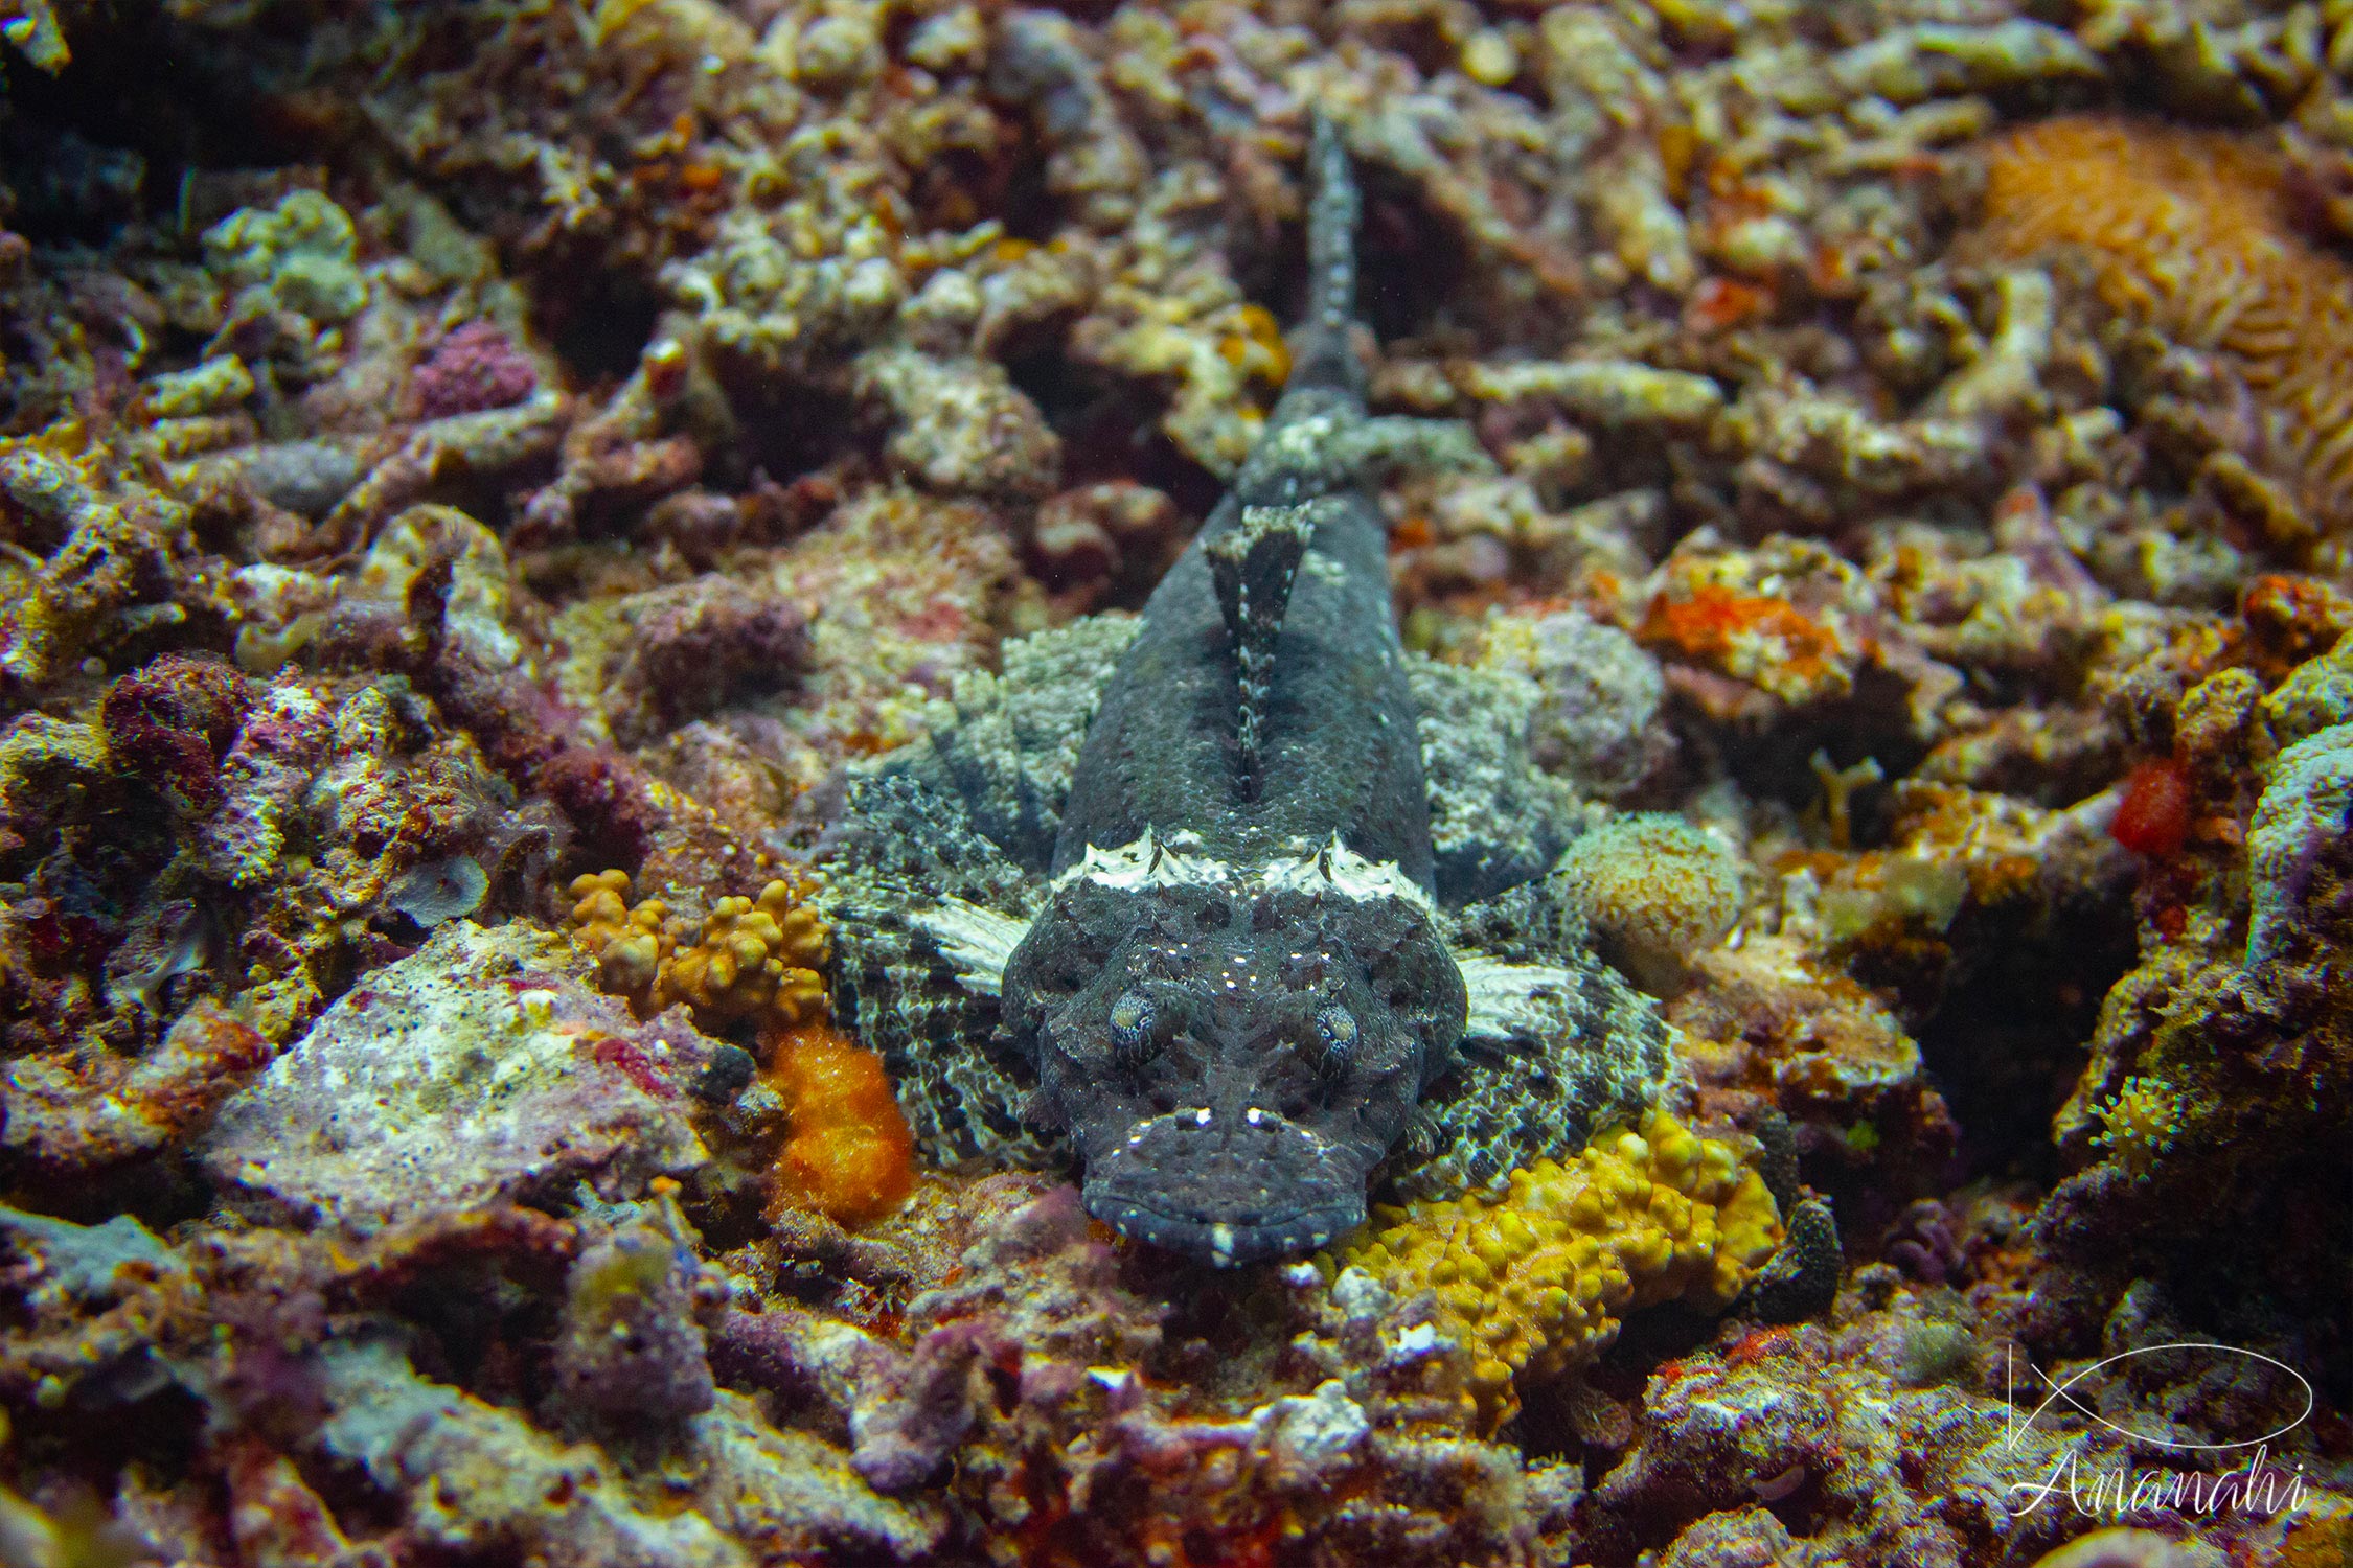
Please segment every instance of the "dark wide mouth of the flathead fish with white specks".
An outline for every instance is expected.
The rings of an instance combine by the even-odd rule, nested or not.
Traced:
[[[1365,1222],[1365,1171],[1271,1110],[1179,1110],[1087,1161],[1087,1213],[1122,1237],[1231,1269],[1325,1246]]]

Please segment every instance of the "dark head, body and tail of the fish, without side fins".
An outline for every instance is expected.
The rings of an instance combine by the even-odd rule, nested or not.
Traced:
[[[1301,369],[1144,609],[1078,757],[1054,896],[1005,969],[1005,1027],[1087,1208],[1217,1262],[1355,1227],[1466,1018],[1355,458],[1353,190],[1325,127],[1315,162]]]

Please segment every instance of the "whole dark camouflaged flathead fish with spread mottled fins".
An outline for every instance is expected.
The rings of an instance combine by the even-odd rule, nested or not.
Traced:
[[[965,682],[828,870],[840,1016],[925,1150],[1075,1157],[1096,1218],[1221,1265],[1567,1154],[1668,1060],[1548,877],[1567,788],[1398,639],[1369,477],[1478,454],[1365,414],[1325,125],[1311,162],[1313,308],[1233,494],[1141,618]]]

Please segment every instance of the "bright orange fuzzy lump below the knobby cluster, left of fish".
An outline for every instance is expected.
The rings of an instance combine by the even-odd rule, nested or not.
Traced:
[[[842,1225],[880,1220],[915,1187],[915,1138],[882,1058],[812,1023],[776,1034],[767,1081],[793,1133],[776,1157],[776,1204]]]

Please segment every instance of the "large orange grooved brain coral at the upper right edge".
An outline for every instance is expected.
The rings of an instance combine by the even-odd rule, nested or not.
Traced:
[[[2113,310],[2238,369],[2273,473],[2325,527],[2353,524],[2353,266],[2297,233],[2282,158],[2214,132],[2068,118],[1991,143],[1986,174],[1995,254],[2087,252]]]

